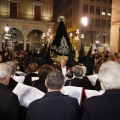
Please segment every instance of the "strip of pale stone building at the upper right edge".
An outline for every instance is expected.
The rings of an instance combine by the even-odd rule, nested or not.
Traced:
[[[120,0],[113,0],[111,18],[111,51],[120,53]]]

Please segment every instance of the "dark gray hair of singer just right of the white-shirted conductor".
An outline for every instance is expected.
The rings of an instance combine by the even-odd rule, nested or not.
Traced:
[[[76,76],[76,77],[82,77],[82,75],[83,75],[82,67],[79,66],[79,65],[75,65],[73,67],[73,75]]]

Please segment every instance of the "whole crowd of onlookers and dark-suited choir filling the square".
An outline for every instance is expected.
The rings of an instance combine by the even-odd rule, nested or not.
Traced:
[[[83,54],[83,61],[87,52]],[[119,120],[120,56],[109,51],[91,53],[89,63],[67,64],[68,58],[49,62],[37,51],[11,50],[0,53],[0,120]],[[18,74],[21,71],[23,74]],[[88,75],[98,74],[96,84]],[[22,84],[35,87],[45,95],[26,108],[12,91],[18,84],[14,76],[24,76]],[[32,77],[38,77],[33,81]],[[99,84],[99,85],[98,85]],[[98,86],[97,86],[98,85]],[[83,99],[63,95],[63,86],[83,87],[89,90],[105,90],[100,96]]]

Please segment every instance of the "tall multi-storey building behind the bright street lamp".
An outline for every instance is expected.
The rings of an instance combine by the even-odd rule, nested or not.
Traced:
[[[66,18],[67,32],[76,50],[79,51],[82,41],[86,51],[90,44],[99,51],[109,49],[112,0],[54,0],[53,3],[53,17]],[[83,16],[88,18],[86,27],[81,22]]]

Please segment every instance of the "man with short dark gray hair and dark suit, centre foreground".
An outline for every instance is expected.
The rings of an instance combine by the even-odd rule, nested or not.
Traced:
[[[77,99],[60,92],[64,84],[62,73],[51,71],[45,84],[48,93],[29,105],[26,120],[80,120],[80,106]]]

